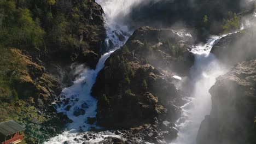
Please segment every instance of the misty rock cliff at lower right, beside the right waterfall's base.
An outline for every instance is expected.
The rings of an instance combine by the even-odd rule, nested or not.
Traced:
[[[256,60],[241,62],[210,89],[212,110],[197,143],[255,143]]]

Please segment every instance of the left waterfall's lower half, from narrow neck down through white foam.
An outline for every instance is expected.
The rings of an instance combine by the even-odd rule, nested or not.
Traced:
[[[73,139],[79,135],[79,131],[86,131],[90,127],[94,127],[95,124],[87,124],[87,117],[96,117],[97,100],[90,95],[91,88],[96,81],[98,72],[104,67],[104,62],[110,56],[113,51],[105,53],[97,64],[95,70],[85,69],[82,74],[79,75],[78,79],[74,81],[71,87],[65,88],[62,94],[65,95],[65,99],[70,99],[68,104],[62,104],[57,108],[57,112],[65,113],[68,118],[72,119],[73,123],[69,124],[67,131],[64,133],[51,138],[46,143],[63,143],[68,141],[69,143],[82,143],[74,141]],[[69,111],[66,107],[71,105]],[[85,113],[79,116],[74,116],[74,112],[77,110],[84,110]]]

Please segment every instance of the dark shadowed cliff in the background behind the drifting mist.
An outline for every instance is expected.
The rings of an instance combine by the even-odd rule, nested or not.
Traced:
[[[230,4],[232,3],[232,4]],[[131,26],[153,27],[191,27],[199,30],[201,37],[205,34],[218,34],[222,31],[222,21],[228,17],[228,11],[241,13],[251,10],[254,3],[242,0],[227,1],[144,1],[131,11]],[[203,17],[207,16],[207,22]],[[200,35],[199,35],[200,36]]]

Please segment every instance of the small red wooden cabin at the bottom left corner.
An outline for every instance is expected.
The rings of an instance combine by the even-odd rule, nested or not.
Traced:
[[[24,130],[22,125],[13,120],[0,123],[0,144],[21,143],[24,139]]]

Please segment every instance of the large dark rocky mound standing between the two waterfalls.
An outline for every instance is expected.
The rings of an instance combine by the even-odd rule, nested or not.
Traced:
[[[187,94],[176,89],[173,74],[165,69],[180,71],[182,65],[187,74],[194,58],[188,52],[193,39],[186,35],[141,27],[107,59],[92,88],[98,99],[98,125],[131,128],[152,123],[154,117],[161,121],[178,118]]]

